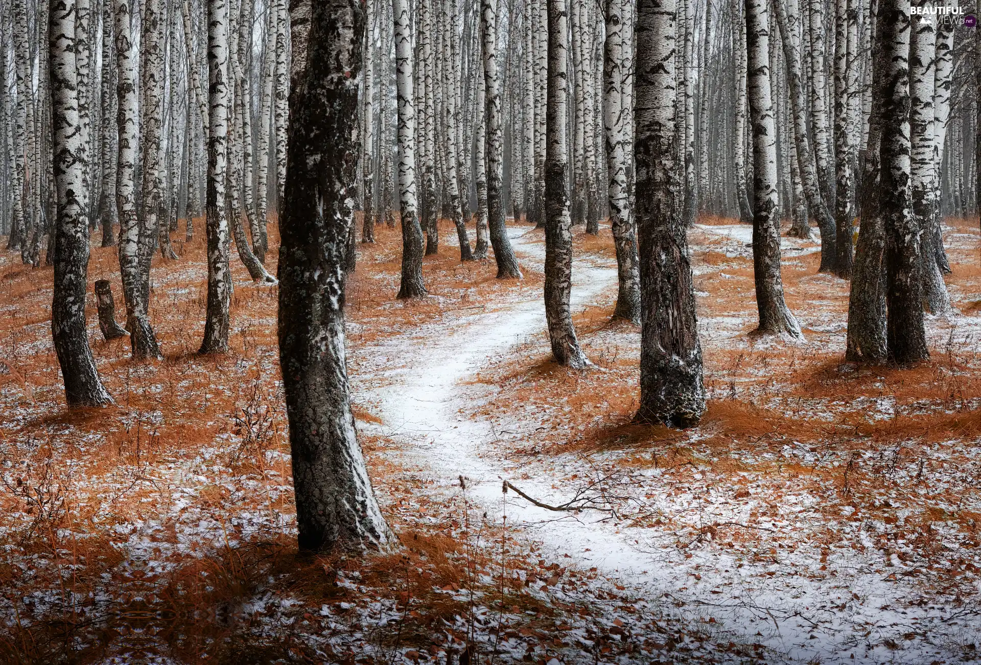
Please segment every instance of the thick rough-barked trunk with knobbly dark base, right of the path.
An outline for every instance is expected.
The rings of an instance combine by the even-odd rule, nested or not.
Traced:
[[[675,0],[638,3],[635,150],[642,323],[636,420],[687,428],[697,425],[705,411],[705,389],[679,195],[683,171],[675,147],[676,22]]]

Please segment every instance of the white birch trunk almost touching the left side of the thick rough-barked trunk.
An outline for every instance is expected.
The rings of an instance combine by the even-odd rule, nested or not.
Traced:
[[[613,316],[641,322],[641,284],[630,194],[627,190],[626,129],[630,108],[623,106],[623,8],[622,0],[606,2],[606,42],[603,57],[603,125],[606,134],[607,194],[610,227],[616,245],[618,291]]]

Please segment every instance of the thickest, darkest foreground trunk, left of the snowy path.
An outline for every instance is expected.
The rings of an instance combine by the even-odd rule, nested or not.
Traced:
[[[383,547],[393,536],[354,432],[344,356],[364,17],[357,0],[294,0],[290,13],[279,338],[299,545]]]

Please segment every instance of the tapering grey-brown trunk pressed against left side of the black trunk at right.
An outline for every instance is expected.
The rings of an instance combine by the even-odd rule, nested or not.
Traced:
[[[874,20],[874,18],[873,18]],[[878,32],[877,32],[878,33]],[[861,226],[852,263],[849,297],[849,331],[845,359],[879,364],[886,360],[886,230],[879,210],[879,144],[882,137],[883,95],[886,66],[882,40],[872,47],[872,109],[868,123],[868,147],[862,159]]]

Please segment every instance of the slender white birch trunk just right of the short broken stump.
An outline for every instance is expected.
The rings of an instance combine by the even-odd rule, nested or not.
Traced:
[[[136,214],[136,49],[129,32],[132,17],[129,0],[116,2],[116,92],[119,110],[119,163],[116,169],[116,200],[120,217],[120,277],[126,300],[127,328],[132,357],[161,358],[160,346],[150,326],[147,303],[140,287],[139,234],[140,223]]]

